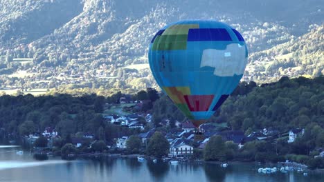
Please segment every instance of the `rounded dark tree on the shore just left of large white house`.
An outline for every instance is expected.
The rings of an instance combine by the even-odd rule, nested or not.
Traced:
[[[161,157],[168,154],[170,144],[161,132],[155,132],[147,145],[146,153],[150,156]]]

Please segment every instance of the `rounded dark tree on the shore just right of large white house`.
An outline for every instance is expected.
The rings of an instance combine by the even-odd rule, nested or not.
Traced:
[[[204,159],[206,161],[224,161],[226,159],[226,146],[222,136],[210,137],[204,150]]]

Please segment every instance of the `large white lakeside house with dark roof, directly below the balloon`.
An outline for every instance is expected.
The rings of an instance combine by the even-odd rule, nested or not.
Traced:
[[[175,139],[170,143],[169,157],[183,158],[193,154],[193,146],[186,139]]]

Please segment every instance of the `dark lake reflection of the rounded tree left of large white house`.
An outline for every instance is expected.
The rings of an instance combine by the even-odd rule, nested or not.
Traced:
[[[163,181],[163,178],[170,170],[168,163],[153,163],[152,161],[147,161],[146,165],[150,174],[156,179],[156,181]]]

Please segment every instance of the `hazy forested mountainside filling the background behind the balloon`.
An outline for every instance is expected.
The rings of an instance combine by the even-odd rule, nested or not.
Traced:
[[[1,0],[0,89],[140,90],[155,32],[181,19],[214,19],[242,32],[244,79],[323,73],[324,3],[287,1]]]

